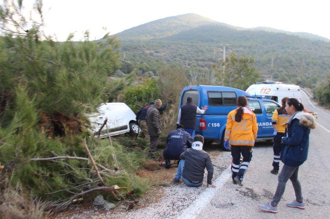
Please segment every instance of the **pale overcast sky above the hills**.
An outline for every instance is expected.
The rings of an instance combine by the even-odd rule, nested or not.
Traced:
[[[23,0],[26,10],[34,0]],[[330,39],[328,0],[43,0],[47,35],[65,41],[121,32],[165,17],[196,13],[237,27],[272,27]]]

